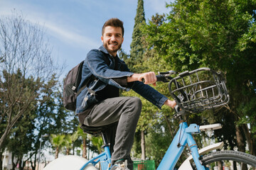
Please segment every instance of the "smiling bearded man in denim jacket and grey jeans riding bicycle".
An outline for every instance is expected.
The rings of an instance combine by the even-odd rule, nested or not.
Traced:
[[[76,113],[81,124],[90,127],[112,125],[107,132],[112,169],[118,169],[117,165],[124,162],[132,169],[130,152],[142,102],[136,97],[119,97],[119,89],[133,89],[158,108],[164,104],[174,108],[176,102],[148,85],[156,86],[154,72],[132,73],[119,60],[117,51],[124,41],[122,21],[118,18],[106,21],[102,27],[101,40],[103,45],[98,50],[88,52],[85,58],[80,87],[87,84],[87,88],[77,98]]]

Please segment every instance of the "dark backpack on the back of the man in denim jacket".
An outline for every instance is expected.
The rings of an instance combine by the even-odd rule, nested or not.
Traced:
[[[70,111],[75,111],[76,108],[76,98],[80,92],[85,89],[85,86],[82,86],[78,91],[78,86],[82,79],[82,64],[84,61],[80,62],[77,66],[68,72],[68,75],[64,79],[63,86],[63,104],[64,107]]]

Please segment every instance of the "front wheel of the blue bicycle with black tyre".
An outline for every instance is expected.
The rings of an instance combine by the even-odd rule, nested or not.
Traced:
[[[203,166],[213,170],[247,170],[256,169],[256,157],[237,151],[212,152],[201,157]],[[196,166],[194,166],[196,167]],[[196,168],[195,168],[196,169]]]

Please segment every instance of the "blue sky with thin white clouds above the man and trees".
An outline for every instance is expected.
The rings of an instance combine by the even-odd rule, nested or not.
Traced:
[[[168,13],[166,2],[144,0],[146,21],[155,13]],[[65,62],[63,74],[84,60],[92,48],[102,45],[101,28],[109,18],[124,21],[122,47],[129,54],[137,0],[0,0],[1,16],[11,15],[14,8],[45,28],[52,56],[59,64]]]

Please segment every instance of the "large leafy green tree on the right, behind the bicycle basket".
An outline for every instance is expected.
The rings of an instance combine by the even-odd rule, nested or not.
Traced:
[[[255,154],[256,113],[249,108],[256,96],[256,2],[180,0],[169,7],[166,22],[149,23],[147,42],[178,72],[210,67],[225,73],[238,149],[245,151],[246,139]]]

